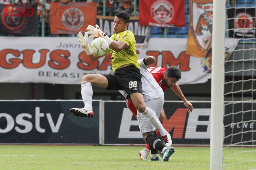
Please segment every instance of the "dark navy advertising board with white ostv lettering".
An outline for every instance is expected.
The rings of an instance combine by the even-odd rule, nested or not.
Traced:
[[[0,101],[0,143],[99,143],[99,101],[94,117],[75,117],[83,101]],[[14,107],[15,106],[15,107]]]

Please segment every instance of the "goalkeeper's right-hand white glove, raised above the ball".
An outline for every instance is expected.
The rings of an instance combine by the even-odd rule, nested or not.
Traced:
[[[89,38],[96,38],[96,37],[105,38],[109,45],[113,42],[113,40],[110,39],[107,34],[103,33],[103,31],[101,31],[101,29],[99,28],[99,26],[97,24],[95,25],[95,27],[89,25],[86,28],[86,30],[88,31],[88,34],[90,35]]]

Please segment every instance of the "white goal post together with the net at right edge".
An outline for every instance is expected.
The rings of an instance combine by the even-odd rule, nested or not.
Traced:
[[[256,170],[255,62],[256,0],[213,0],[210,170]]]

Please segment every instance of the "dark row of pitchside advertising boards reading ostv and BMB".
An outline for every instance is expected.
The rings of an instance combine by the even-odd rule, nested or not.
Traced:
[[[165,101],[163,127],[174,145],[210,144],[211,102],[193,101],[188,113],[182,101]],[[75,117],[82,100],[0,101],[0,143],[145,144],[138,120],[125,101],[93,101],[93,118]],[[253,102],[225,106],[224,144],[252,145],[256,140]],[[241,107],[246,112],[240,112]],[[229,114],[233,110],[236,114]]]

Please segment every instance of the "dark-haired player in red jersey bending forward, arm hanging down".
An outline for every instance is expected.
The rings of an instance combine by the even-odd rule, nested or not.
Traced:
[[[161,86],[163,92],[167,90],[167,88],[171,88],[178,97],[182,99],[184,102],[185,107],[188,108],[188,112],[192,112],[193,110],[193,105],[187,101],[187,99],[184,97],[180,87],[176,83],[180,79],[180,69],[177,67],[170,67],[170,68],[165,68],[165,67],[150,67],[147,68],[147,70],[153,75],[155,81]],[[133,104],[126,100],[127,107],[131,110],[132,114],[134,117],[137,118],[137,110],[133,106]],[[164,118],[166,117],[165,111],[162,107],[159,121],[163,123]],[[162,136],[163,139],[165,139],[165,136]],[[150,152],[150,146],[146,144],[145,148],[139,152],[140,159],[146,160]],[[158,152],[159,153],[159,152]]]

